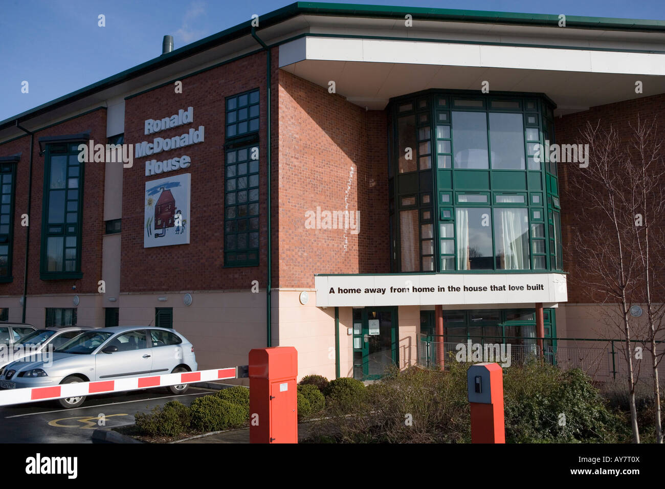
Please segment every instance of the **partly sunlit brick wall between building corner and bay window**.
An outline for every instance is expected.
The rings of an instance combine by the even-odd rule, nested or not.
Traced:
[[[312,287],[314,273],[389,272],[386,112],[366,111],[280,71],[279,114],[279,285],[273,285]],[[359,234],[305,228],[305,212],[344,211],[345,197],[349,211],[360,211]]]

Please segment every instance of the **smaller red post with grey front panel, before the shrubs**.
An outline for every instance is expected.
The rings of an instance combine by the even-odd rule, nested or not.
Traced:
[[[471,365],[466,381],[471,403],[471,443],[505,443],[501,365]]]

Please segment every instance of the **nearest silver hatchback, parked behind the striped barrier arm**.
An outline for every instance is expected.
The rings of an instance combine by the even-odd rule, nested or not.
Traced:
[[[0,375],[0,389],[108,381],[196,371],[197,367],[192,343],[177,331],[146,326],[100,328],[65,343],[50,362],[10,363]],[[166,389],[182,394],[188,385]],[[84,401],[85,396],[81,396],[61,399],[59,403],[74,408]]]

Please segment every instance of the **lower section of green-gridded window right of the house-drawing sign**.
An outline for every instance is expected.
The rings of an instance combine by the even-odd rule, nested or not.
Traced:
[[[224,266],[256,266],[259,264],[259,146],[227,148],[224,175]]]

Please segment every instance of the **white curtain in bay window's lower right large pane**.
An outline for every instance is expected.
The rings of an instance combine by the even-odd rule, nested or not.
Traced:
[[[495,247],[503,253],[501,269],[529,269],[529,223],[526,209],[495,209]],[[498,236],[497,236],[498,235]]]

